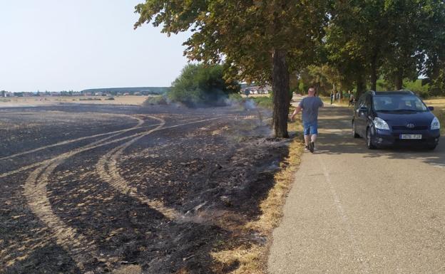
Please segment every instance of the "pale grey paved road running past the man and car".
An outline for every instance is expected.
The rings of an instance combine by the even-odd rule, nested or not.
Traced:
[[[445,273],[445,145],[366,149],[326,107],[273,233],[270,273]]]

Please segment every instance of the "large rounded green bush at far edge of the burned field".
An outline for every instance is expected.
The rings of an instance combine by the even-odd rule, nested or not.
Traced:
[[[225,105],[228,95],[240,90],[238,83],[226,83],[223,65],[186,65],[167,93],[168,99],[189,107]]]

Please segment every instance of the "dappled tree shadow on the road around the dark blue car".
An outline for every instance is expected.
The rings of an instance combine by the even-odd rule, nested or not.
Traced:
[[[317,153],[362,154],[363,158],[417,159],[437,167],[445,167],[445,145],[434,151],[422,147],[367,149],[364,139],[354,139],[351,132],[352,109],[325,107],[319,114]]]

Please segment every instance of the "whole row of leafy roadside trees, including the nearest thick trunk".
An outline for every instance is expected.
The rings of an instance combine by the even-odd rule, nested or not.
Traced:
[[[272,83],[279,137],[289,136],[292,82],[307,70],[321,70],[335,90],[376,90],[379,79],[401,89],[423,76],[431,95],[444,94],[442,0],[145,0],[135,12],[135,28],[190,31],[185,56],[224,62],[226,80]]]

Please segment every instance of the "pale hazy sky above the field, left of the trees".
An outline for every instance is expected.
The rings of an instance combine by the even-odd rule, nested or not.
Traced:
[[[143,0],[0,0],[0,90],[170,86],[189,33],[133,30]]]

